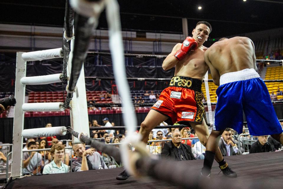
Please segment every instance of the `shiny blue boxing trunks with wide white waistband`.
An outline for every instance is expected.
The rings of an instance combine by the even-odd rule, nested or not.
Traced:
[[[216,94],[218,101],[214,114],[214,130],[233,128],[242,133],[244,111],[251,135],[282,133],[268,89],[254,69],[223,74]]]

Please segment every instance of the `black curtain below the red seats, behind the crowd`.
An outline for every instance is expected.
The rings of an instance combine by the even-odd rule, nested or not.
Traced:
[[[138,125],[141,125],[141,122],[147,116],[147,113],[138,113],[137,121]],[[88,115],[88,120],[93,119],[98,121],[99,125],[103,124],[103,118],[109,118],[110,122],[114,122],[116,126],[124,126],[122,114],[101,114],[101,115]],[[66,121],[65,121],[66,120]],[[24,129],[31,128],[42,128],[45,127],[46,123],[51,123],[52,126],[67,126],[70,125],[70,116],[52,116],[52,117],[34,117],[34,118],[24,118]],[[80,131],[77,131],[80,132]],[[121,130],[120,133],[124,133],[124,130]],[[65,136],[58,136],[58,139],[71,139],[70,134]],[[0,118],[0,141],[3,143],[12,143],[13,142],[13,118]]]

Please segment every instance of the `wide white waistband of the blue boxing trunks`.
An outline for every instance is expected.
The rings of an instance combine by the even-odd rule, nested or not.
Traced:
[[[259,74],[253,68],[243,69],[241,71],[230,72],[220,76],[220,85],[258,77],[260,77]]]

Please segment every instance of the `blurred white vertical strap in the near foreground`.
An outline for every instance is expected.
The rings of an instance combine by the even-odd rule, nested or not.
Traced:
[[[134,173],[129,164],[129,150],[126,143],[135,144],[139,141],[140,135],[135,135],[137,119],[134,107],[130,97],[129,83],[126,80],[124,48],[121,33],[121,23],[119,14],[119,5],[116,0],[106,0],[106,17],[109,26],[109,45],[113,56],[113,73],[119,94],[123,102],[123,120],[126,126],[127,138],[123,141],[121,146],[121,159],[130,174]]]

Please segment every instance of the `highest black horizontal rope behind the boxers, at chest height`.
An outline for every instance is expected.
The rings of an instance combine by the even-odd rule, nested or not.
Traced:
[[[111,56],[111,53],[88,52],[88,55]],[[130,57],[130,58],[166,58],[167,55],[125,53],[125,57]],[[256,62],[282,63],[281,60],[264,60],[264,59],[256,59]]]

